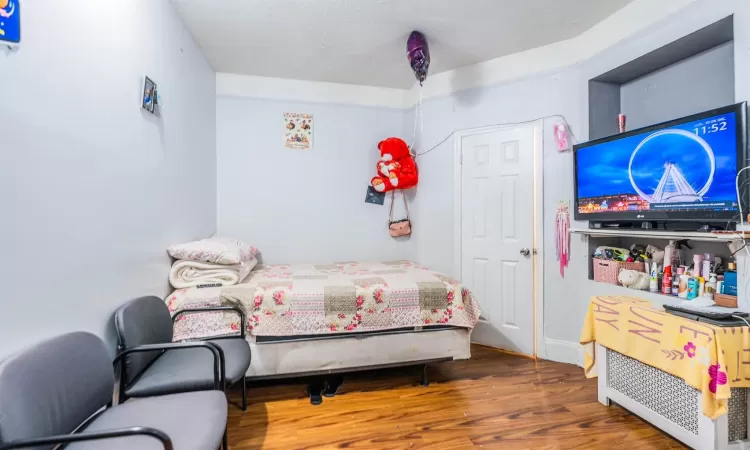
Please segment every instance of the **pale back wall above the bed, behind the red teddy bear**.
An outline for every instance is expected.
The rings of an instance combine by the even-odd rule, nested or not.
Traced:
[[[285,112],[314,116],[311,150],[284,148]],[[219,97],[219,233],[256,246],[266,263],[412,259],[414,242],[388,235],[389,200],[386,206],[364,201],[376,174],[378,142],[390,136],[411,139],[404,127],[407,114],[403,109]]]

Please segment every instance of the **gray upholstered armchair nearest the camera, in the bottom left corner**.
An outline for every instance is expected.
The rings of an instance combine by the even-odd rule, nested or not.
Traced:
[[[178,345],[170,351],[202,347],[218,374],[215,347]],[[110,361],[101,339],[76,332],[0,364],[0,450],[57,444],[68,444],[68,450],[210,450],[226,439],[227,400],[221,390],[110,406],[115,388]],[[219,382],[217,376],[217,387]]]

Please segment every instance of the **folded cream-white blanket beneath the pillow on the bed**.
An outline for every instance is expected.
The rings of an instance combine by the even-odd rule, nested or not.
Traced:
[[[242,282],[258,260],[253,258],[240,264],[214,264],[200,261],[177,260],[169,271],[169,282],[175,289],[220,284],[231,286]]]

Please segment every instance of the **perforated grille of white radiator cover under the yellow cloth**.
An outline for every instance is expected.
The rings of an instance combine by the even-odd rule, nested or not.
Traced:
[[[698,435],[697,391],[681,378],[607,350],[607,385]],[[729,442],[747,439],[747,388],[732,388],[731,391]]]

